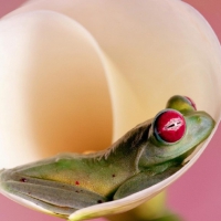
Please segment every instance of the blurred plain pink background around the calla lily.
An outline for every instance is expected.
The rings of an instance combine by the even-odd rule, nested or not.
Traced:
[[[19,7],[24,0],[0,0],[0,17]],[[186,0],[209,21],[221,41],[221,1]],[[168,190],[168,206],[185,221],[221,220],[221,126],[198,162]],[[23,208],[0,196],[2,221],[59,221]],[[101,220],[102,221],[102,220]]]

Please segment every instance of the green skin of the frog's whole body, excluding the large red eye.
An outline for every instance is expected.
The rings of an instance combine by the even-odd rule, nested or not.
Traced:
[[[177,143],[158,140],[149,119],[124,135],[107,150],[62,154],[2,170],[0,188],[67,217],[75,210],[122,199],[168,178],[182,167],[194,148],[212,131],[214,120],[197,112],[183,96],[172,96],[166,108],[180,112],[187,124]]]

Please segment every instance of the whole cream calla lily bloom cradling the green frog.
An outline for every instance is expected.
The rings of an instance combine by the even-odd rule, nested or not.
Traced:
[[[182,1],[32,0],[1,20],[0,33],[1,168],[105,149],[175,94],[220,120],[220,44]],[[151,199],[196,162],[215,129],[168,179],[69,219],[125,212]]]

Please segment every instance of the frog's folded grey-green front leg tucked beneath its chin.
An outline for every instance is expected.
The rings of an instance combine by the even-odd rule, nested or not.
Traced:
[[[127,181],[125,181],[114,194],[114,200],[122,199],[124,197],[128,197],[135,192],[141,191],[148,187],[151,187],[166,178],[173,175],[178,171],[180,167],[170,167],[160,173],[156,173],[152,171],[144,171],[138,175],[135,175]]]

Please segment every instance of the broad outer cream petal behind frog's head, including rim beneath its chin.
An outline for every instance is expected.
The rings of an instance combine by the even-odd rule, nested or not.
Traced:
[[[112,98],[112,107],[107,110],[110,113],[113,108],[113,140],[152,117],[173,94],[190,96],[198,109],[208,112],[219,123],[220,44],[207,21],[185,2],[35,0],[2,21],[8,22],[15,14],[40,9],[66,14],[97,42],[95,54],[102,63],[104,77],[107,77],[109,88],[106,90],[109,90]],[[97,113],[103,110],[99,108]],[[109,136],[106,130],[98,134]],[[167,180],[128,198],[78,210],[70,220],[123,212],[150,199],[192,166],[209,139],[191,156],[187,166]],[[34,147],[38,148],[38,145],[32,145]]]

